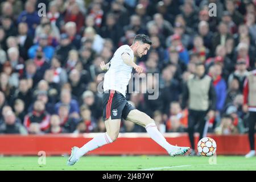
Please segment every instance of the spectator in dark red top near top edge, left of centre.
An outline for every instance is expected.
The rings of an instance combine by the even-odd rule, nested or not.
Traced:
[[[70,9],[67,10],[64,17],[65,23],[67,22],[75,22],[77,27],[77,33],[80,32],[83,24],[84,24],[84,15],[81,13],[79,9],[79,5],[77,3],[73,3]]]

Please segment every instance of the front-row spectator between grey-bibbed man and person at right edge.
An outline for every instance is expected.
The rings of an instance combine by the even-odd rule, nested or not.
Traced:
[[[237,126],[234,125],[234,119],[230,115],[222,117],[220,126],[216,127],[215,133],[218,135],[238,134]]]

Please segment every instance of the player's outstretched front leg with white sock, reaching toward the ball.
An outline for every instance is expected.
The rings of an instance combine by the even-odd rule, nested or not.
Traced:
[[[127,113],[126,106],[124,111]],[[139,111],[137,109],[130,110],[129,113],[124,114],[123,118],[126,118],[127,121],[131,121],[134,123],[137,123],[138,125],[141,125],[145,127],[147,133],[150,135],[150,137],[158,143],[160,146],[162,146],[168,154],[175,156],[179,154],[184,154],[189,150],[189,147],[187,148],[181,148],[181,147],[176,147],[171,145],[170,143],[167,142],[166,138],[163,137],[163,135],[160,133],[160,131],[157,129],[155,125],[155,121],[151,119],[147,114],[143,113],[142,111]],[[178,151],[177,151],[178,150]]]

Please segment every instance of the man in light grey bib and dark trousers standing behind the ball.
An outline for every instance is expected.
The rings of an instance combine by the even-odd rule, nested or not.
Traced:
[[[196,64],[196,74],[188,79],[184,85],[181,108],[185,109],[188,102],[188,135],[195,155],[194,132],[195,125],[199,123],[200,138],[205,137],[205,123],[214,117],[216,110],[216,92],[210,76],[205,75],[202,63]]]

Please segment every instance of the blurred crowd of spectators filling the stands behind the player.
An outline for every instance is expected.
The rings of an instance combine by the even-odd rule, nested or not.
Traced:
[[[39,17],[39,3],[46,15]],[[217,16],[208,14],[216,3]],[[0,133],[104,132],[101,61],[136,34],[152,46],[137,59],[159,73],[157,100],[128,93],[162,133],[185,132],[184,84],[202,63],[216,92],[208,132],[247,133],[243,85],[255,69],[256,1],[7,0],[0,5]],[[151,85],[152,86],[152,85]],[[121,132],[146,132],[124,121]]]

